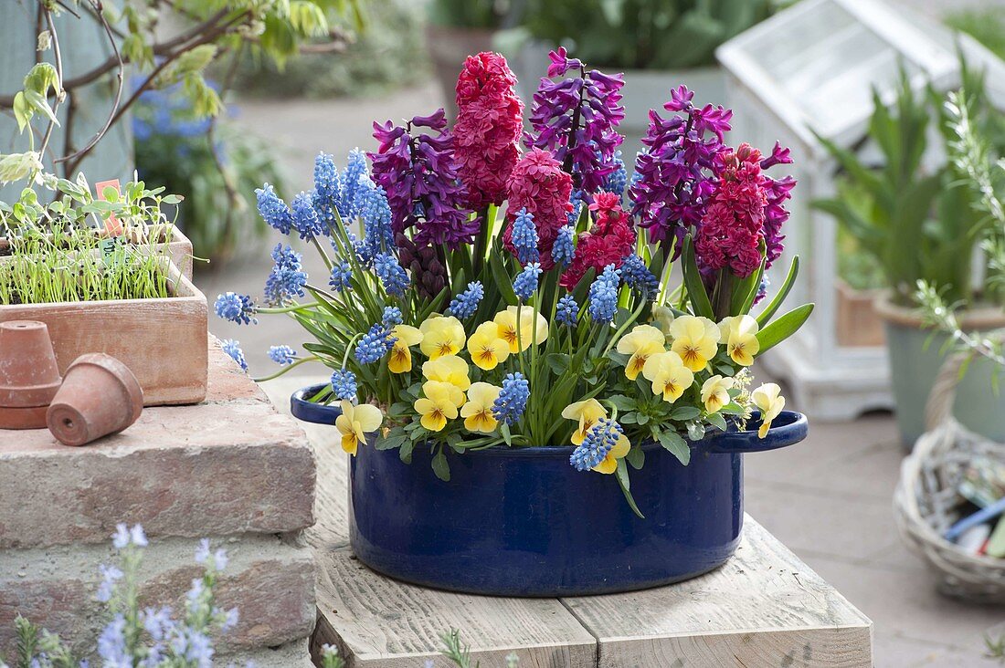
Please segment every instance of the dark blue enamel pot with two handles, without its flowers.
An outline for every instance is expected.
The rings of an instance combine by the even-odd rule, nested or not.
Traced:
[[[334,424],[337,407],[293,395],[293,415]],[[494,447],[450,456],[450,481],[416,448],[361,447],[350,464],[350,540],[367,566],[437,589],[521,597],[609,594],[708,573],[733,554],[743,527],[743,455],[806,438],[806,416],[783,412],[753,431],[690,443],[683,466],[656,443],[630,470],[636,516],[610,475],[569,464],[572,447]],[[333,447],[337,447],[333,445]]]

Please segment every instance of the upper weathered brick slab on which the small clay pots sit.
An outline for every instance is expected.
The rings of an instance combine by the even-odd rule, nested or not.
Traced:
[[[91,445],[0,431],[0,549],[104,542],[121,521],[188,537],[313,524],[304,431],[223,357],[210,356],[207,403],[147,409]]]

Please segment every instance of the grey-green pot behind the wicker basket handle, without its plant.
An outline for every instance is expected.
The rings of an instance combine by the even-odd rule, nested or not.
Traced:
[[[891,303],[888,294],[876,299],[876,311],[885,323],[900,440],[910,450],[925,433],[925,406],[946,362],[942,347],[948,337],[923,328],[916,311]],[[989,331],[1005,327],[1005,313],[996,308],[973,309],[962,315],[960,324],[966,330]],[[1005,442],[1005,392],[995,396],[992,386],[995,372],[993,363],[974,360],[957,387],[953,415],[967,429],[993,441]]]

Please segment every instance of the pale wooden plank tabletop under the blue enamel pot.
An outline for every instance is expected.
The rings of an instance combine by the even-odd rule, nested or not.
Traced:
[[[320,379],[262,388],[282,411]],[[334,429],[305,424],[318,460],[315,647],[342,648],[350,668],[437,668],[440,635],[460,629],[483,668],[720,668],[872,665],[871,622],[751,517],[722,569],[670,587],[602,597],[504,599],[437,592],[384,578],[348,540],[347,458]]]

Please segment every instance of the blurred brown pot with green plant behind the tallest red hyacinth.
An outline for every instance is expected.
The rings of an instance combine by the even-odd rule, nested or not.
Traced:
[[[519,1],[519,0],[518,0]],[[431,0],[426,44],[436,80],[443,90],[447,117],[457,118],[453,85],[468,53],[492,47],[492,37],[511,11],[511,0]]]

